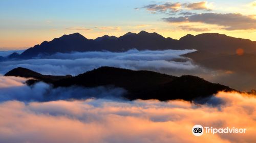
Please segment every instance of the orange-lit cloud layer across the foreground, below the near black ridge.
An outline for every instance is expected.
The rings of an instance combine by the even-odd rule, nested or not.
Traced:
[[[0,142],[255,142],[256,99],[217,94],[219,107],[185,101],[88,99],[0,103]],[[195,124],[245,134],[191,133]]]

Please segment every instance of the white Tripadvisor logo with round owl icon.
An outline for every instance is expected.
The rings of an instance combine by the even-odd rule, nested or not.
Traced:
[[[211,134],[216,134],[216,133],[245,133],[246,128],[212,128],[212,127],[203,127],[201,125],[195,125],[192,128],[192,133],[195,136],[201,136],[203,133],[211,133]]]

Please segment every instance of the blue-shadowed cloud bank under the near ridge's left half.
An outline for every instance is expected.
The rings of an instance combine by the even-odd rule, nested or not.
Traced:
[[[115,98],[122,99],[126,91],[122,88],[99,86],[84,88],[79,86],[53,88],[44,82],[33,86],[25,84],[25,78],[0,76],[0,102],[8,100],[30,101],[55,101],[88,98]]]

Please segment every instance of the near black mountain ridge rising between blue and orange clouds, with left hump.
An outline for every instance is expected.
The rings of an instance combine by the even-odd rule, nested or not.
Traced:
[[[45,81],[54,87],[68,86],[114,86],[127,90],[125,98],[135,99],[158,99],[161,101],[183,99],[191,101],[196,98],[211,96],[218,91],[231,91],[233,89],[210,83],[195,76],[169,76],[146,70],[130,70],[116,67],[100,67],[75,77],[53,80],[53,77],[38,74],[26,68],[15,68],[6,76],[32,77],[39,81]],[[51,79],[51,80],[49,80]],[[36,81],[28,82],[34,83]]]

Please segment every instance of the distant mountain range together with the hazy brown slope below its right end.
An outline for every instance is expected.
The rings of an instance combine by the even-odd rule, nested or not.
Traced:
[[[226,78],[215,81],[240,90],[255,89],[256,81],[256,41],[234,38],[218,33],[187,34],[179,40],[165,38],[157,33],[126,33],[115,37],[104,35],[96,39],[87,39],[79,33],[63,35],[52,41],[44,41],[24,51],[0,57],[0,61],[30,59],[40,55],[54,53],[112,51],[123,52],[137,50],[184,50],[196,49],[196,52],[182,55],[193,59],[197,65],[221,71]],[[237,50],[243,52],[237,54]],[[208,79],[209,80],[209,79]]]

